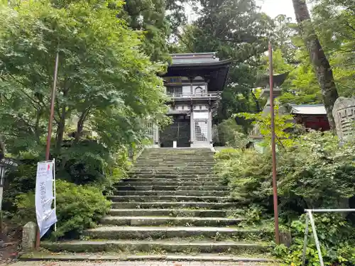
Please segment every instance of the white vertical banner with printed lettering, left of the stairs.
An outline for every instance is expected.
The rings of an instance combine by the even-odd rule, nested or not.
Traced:
[[[57,223],[55,209],[52,209],[54,160],[38,162],[37,175],[35,178],[35,215],[37,217],[40,237],[48,231],[50,226]]]

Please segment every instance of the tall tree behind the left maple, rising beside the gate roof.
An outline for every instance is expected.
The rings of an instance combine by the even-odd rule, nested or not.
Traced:
[[[80,0],[51,0],[55,6],[64,8]],[[136,31],[142,31],[141,49],[153,61],[170,60],[168,55],[171,35],[186,22],[185,1],[172,0],[127,0],[124,4],[116,1],[90,0],[89,4],[107,4],[109,9],[116,10],[112,15],[124,19]],[[122,8],[121,8],[122,7]]]

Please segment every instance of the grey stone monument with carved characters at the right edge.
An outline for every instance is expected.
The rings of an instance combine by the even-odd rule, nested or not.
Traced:
[[[341,140],[354,138],[355,98],[339,97],[333,107],[337,135]]]

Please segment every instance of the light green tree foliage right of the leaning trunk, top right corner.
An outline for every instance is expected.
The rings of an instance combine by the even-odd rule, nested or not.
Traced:
[[[315,29],[334,71],[339,94],[354,96],[355,5],[353,1],[319,0],[312,10]]]

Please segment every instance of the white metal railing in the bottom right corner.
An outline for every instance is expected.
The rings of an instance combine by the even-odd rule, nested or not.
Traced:
[[[308,242],[308,225],[311,223],[313,235],[315,236],[315,246],[317,247],[318,257],[320,258],[320,265],[324,266],[322,250],[320,250],[320,240],[318,240],[317,231],[315,229],[315,219],[312,213],[324,213],[324,212],[353,212],[355,209],[305,209],[306,212],[306,228],[305,228],[305,243],[303,245],[302,254],[302,266],[305,266],[306,261],[306,251]]]

